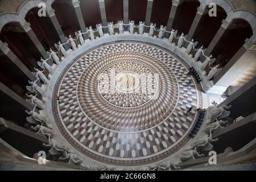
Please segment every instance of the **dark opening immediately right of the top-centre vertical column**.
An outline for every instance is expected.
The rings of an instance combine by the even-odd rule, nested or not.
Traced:
[[[129,20],[134,20],[135,24],[146,19],[147,0],[129,0]]]

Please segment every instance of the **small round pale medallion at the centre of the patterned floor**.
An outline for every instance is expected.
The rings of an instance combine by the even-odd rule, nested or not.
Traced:
[[[115,89],[122,93],[134,93],[141,88],[141,77],[135,72],[121,72],[115,76]]]

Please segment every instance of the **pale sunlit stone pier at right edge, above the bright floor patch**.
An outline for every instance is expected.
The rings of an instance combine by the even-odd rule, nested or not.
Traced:
[[[218,86],[228,87],[255,63],[255,57],[256,46],[251,43],[250,39],[246,39],[246,43],[213,79],[213,83]]]

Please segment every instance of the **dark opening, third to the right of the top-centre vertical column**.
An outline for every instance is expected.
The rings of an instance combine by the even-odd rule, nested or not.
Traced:
[[[187,1],[183,0],[177,7],[174,23],[172,28],[178,31],[178,34],[182,32],[186,35],[193,23],[193,20],[197,13],[197,7],[200,6],[199,1]]]

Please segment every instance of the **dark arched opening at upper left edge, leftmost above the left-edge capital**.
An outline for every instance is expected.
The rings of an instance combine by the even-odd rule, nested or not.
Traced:
[[[38,67],[37,61],[42,55],[19,23],[6,24],[2,28],[0,39],[9,44],[11,51],[28,69],[32,70],[34,67]]]

